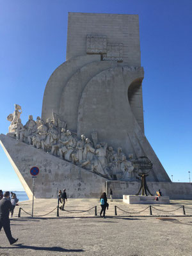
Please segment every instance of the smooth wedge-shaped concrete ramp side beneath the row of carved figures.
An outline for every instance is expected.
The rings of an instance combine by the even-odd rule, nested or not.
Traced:
[[[10,159],[28,197],[33,196],[31,167],[38,166],[35,179],[36,198],[57,198],[60,189],[67,189],[70,198],[95,198],[105,190],[106,179],[63,161],[13,138],[0,135],[0,143]]]

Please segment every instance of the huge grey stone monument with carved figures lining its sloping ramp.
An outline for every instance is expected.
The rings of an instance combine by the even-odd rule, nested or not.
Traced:
[[[153,163],[148,182],[171,186],[144,133],[138,15],[68,13],[66,56],[45,86],[41,118],[29,115],[22,125],[15,104],[1,134],[29,198],[32,166],[40,169],[37,198],[54,198],[64,187],[70,197],[109,187],[116,198],[128,195],[124,189],[134,195],[138,157]]]

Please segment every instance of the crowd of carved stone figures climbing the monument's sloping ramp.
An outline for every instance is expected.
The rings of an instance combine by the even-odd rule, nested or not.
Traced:
[[[117,152],[108,143],[97,143],[97,132],[93,132],[92,140],[84,134],[77,138],[76,132],[67,130],[67,123],[53,114],[53,119],[46,122],[37,116],[36,121],[29,115],[29,120],[22,125],[20,114],[22,110],[15,104],[15,111],[8,115],[11,122],[8,136],[28,143],[35,148],[41,148],[53,156],[81,166],[86,170],[110,180],[133,180],[136,172],[132,164],[133,155],[125,156],[122,148]]]

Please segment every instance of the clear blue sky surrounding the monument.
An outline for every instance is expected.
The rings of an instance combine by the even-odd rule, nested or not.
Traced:
[[[0,132],[14,104],[41,115],[45,84],[65,61],[68,12],[138,14],[145,135],[175,182],[191,172],[191,0],[0,0]],[[23,190],[0,148],[0,189]]]

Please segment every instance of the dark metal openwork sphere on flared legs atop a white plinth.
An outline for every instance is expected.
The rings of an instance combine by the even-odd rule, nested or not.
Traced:
[[[138,196],[141,191],[141,196],[147,196],[147,191],[149,195],[152,196],[152,193],[150,193],[148,186],[147,186],[147,181],[146,177],[148,176],[148,173],[152,169],[152,162],[145,156],[138,157],[135,161],[132,162],[134,164],[134,167],[137,169],[138,176],[141,177],[141,186],[136,194]],[[137,177],[137,179],[140,179]]]

